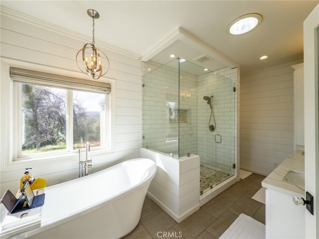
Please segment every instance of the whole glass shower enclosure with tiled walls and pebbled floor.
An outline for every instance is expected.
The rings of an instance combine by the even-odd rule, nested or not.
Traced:
[[[237,159],[236,82],[218,72],[175,59],[143,76],[142,147],[199,155],[200,194],[234,175]]]

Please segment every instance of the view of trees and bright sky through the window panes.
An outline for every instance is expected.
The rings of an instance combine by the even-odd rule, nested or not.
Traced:
[[[105,94],[21,84],[21,155],[102,146],[105,103]]]

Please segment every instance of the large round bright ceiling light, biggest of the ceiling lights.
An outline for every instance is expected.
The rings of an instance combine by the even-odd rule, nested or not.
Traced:
[[[257,13],[240,16],[227,26],[227,32],[232,35],[244,34],[260,25],[262,19],[262,16]]]

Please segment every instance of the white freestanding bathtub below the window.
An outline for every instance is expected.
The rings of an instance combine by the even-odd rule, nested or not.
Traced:
[[[138,225],[157,171],[137,158],[45,188],[41,227],[13,236],[36,239],[118,239]]]

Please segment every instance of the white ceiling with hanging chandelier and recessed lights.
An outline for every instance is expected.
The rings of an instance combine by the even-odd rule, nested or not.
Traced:
[[[226,64],[218,58],[221,53],[231,66],[239,64],[241,72],[303,59],[303,22],[318,3],[319,0],[0,1],[2,6],[88,37],[92,37],[92,20],[86,11],[93,8],[100,13],[100,18],[95,20],[98,41],[132,52],[142,60],[163,58],[164,53],[174,49],[176,52],[188,49],[178,56],[192,60],[191,51],[207,53],[192,44],[199,41],[206,49],[216,50],[215,55],[207,55],[217,56],[213,59],[216,64],[222,61],[215,66],[217,69]],[[240,36],[229,35],[227,25],[247,13],[261,14],[261,25]],[[167,39],[178,27],[195,41],[187,41],[188,45],[181,47],[185,42],[177,44],[180,43],[177,36],[176,41],[168,44]],[[261,61],[262,55],[269,58]],[[169,60],[167,56],[166,62]]]

